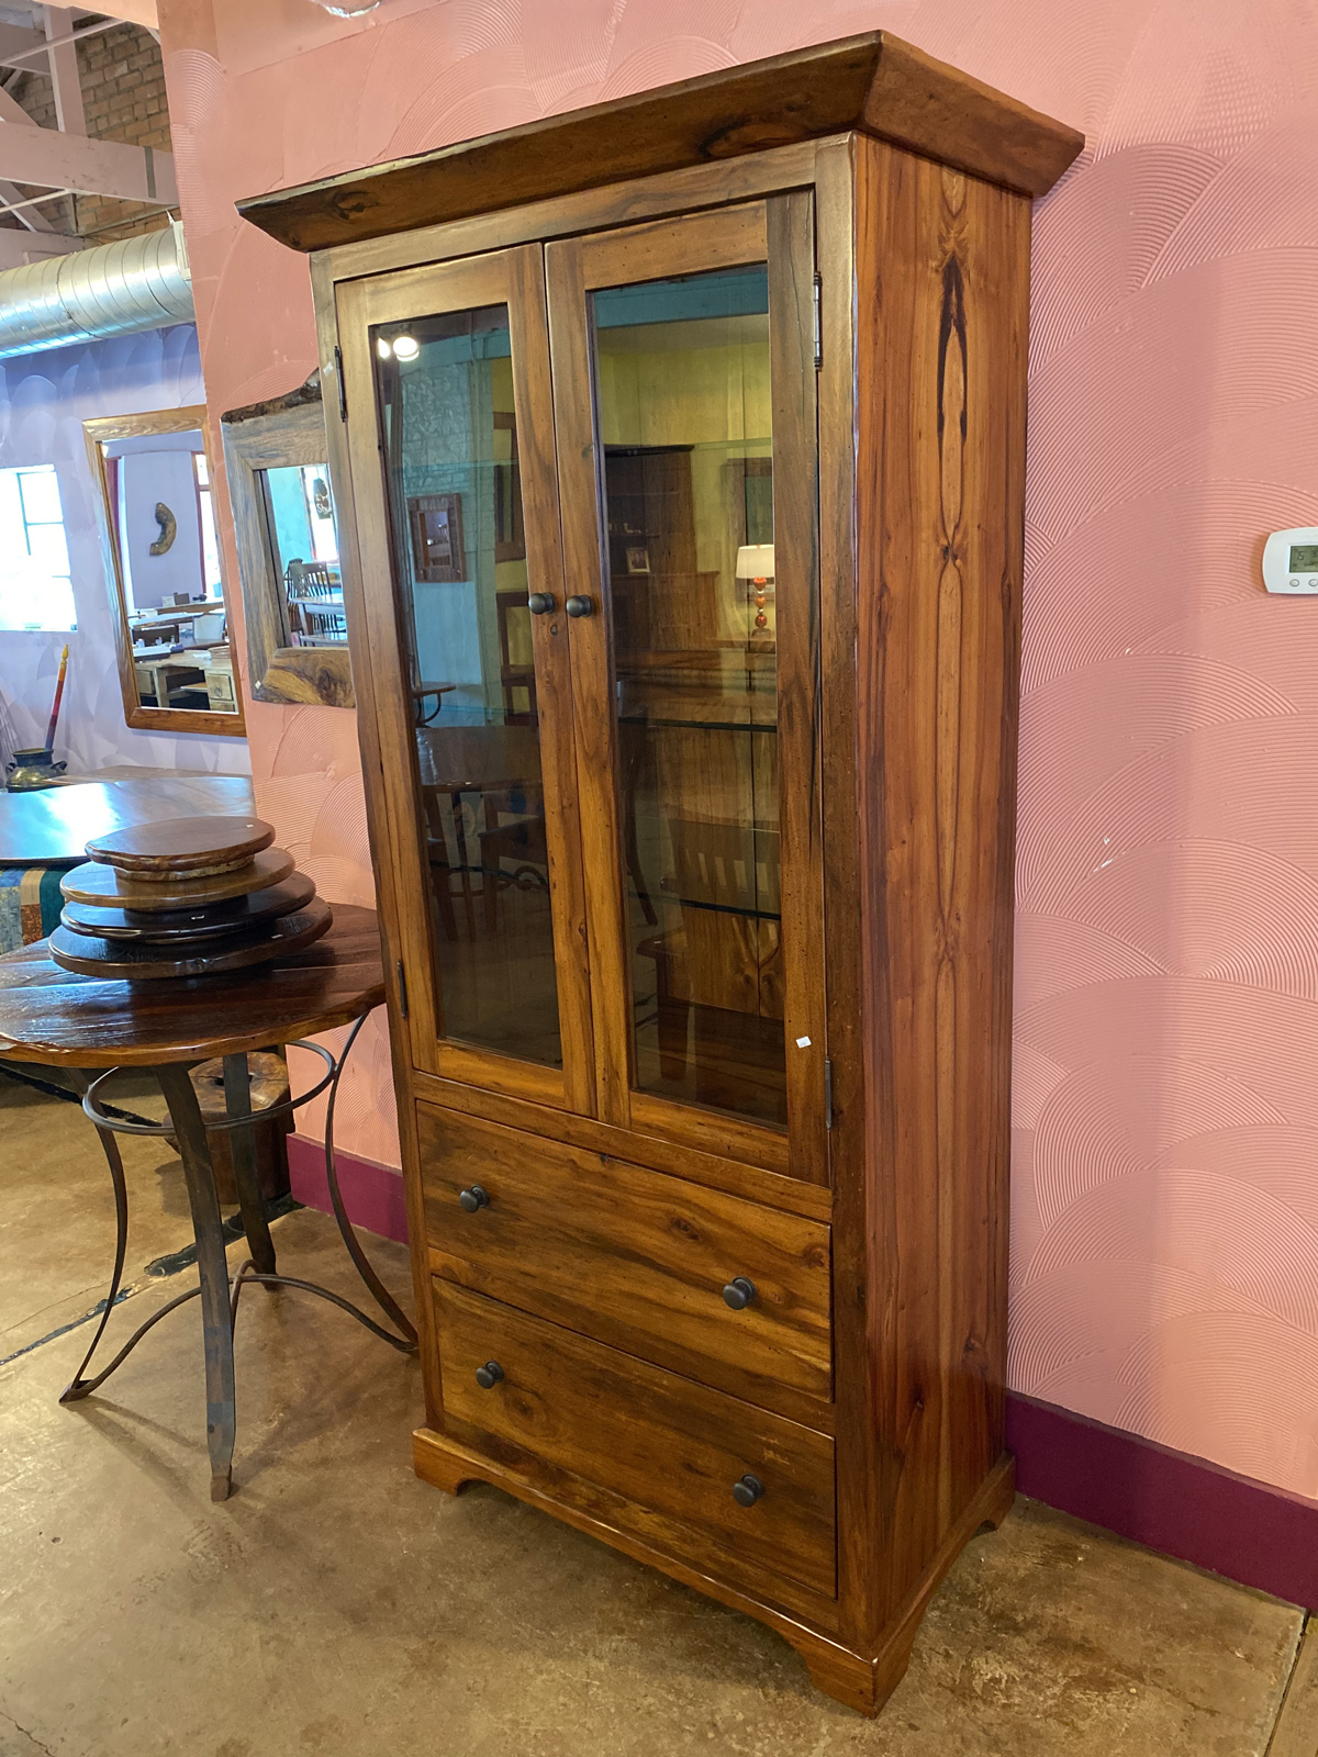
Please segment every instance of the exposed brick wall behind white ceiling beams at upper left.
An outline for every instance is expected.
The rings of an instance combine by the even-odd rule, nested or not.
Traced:
[[[88,135],[170,149],[165,72],[160,44],[149,32],[139,25],[116,25],[86,37],[77,46],[77,72]],[[47,74],[25,74],[9,91],[35,123],[54,127],[54,91]],[[23,193],[39,192],[25,188]],[[104,195],[74,195],[46,202],[40,211],[56,230],[77,232],[88,244],[153,232],[165,223],[162,209]]]

